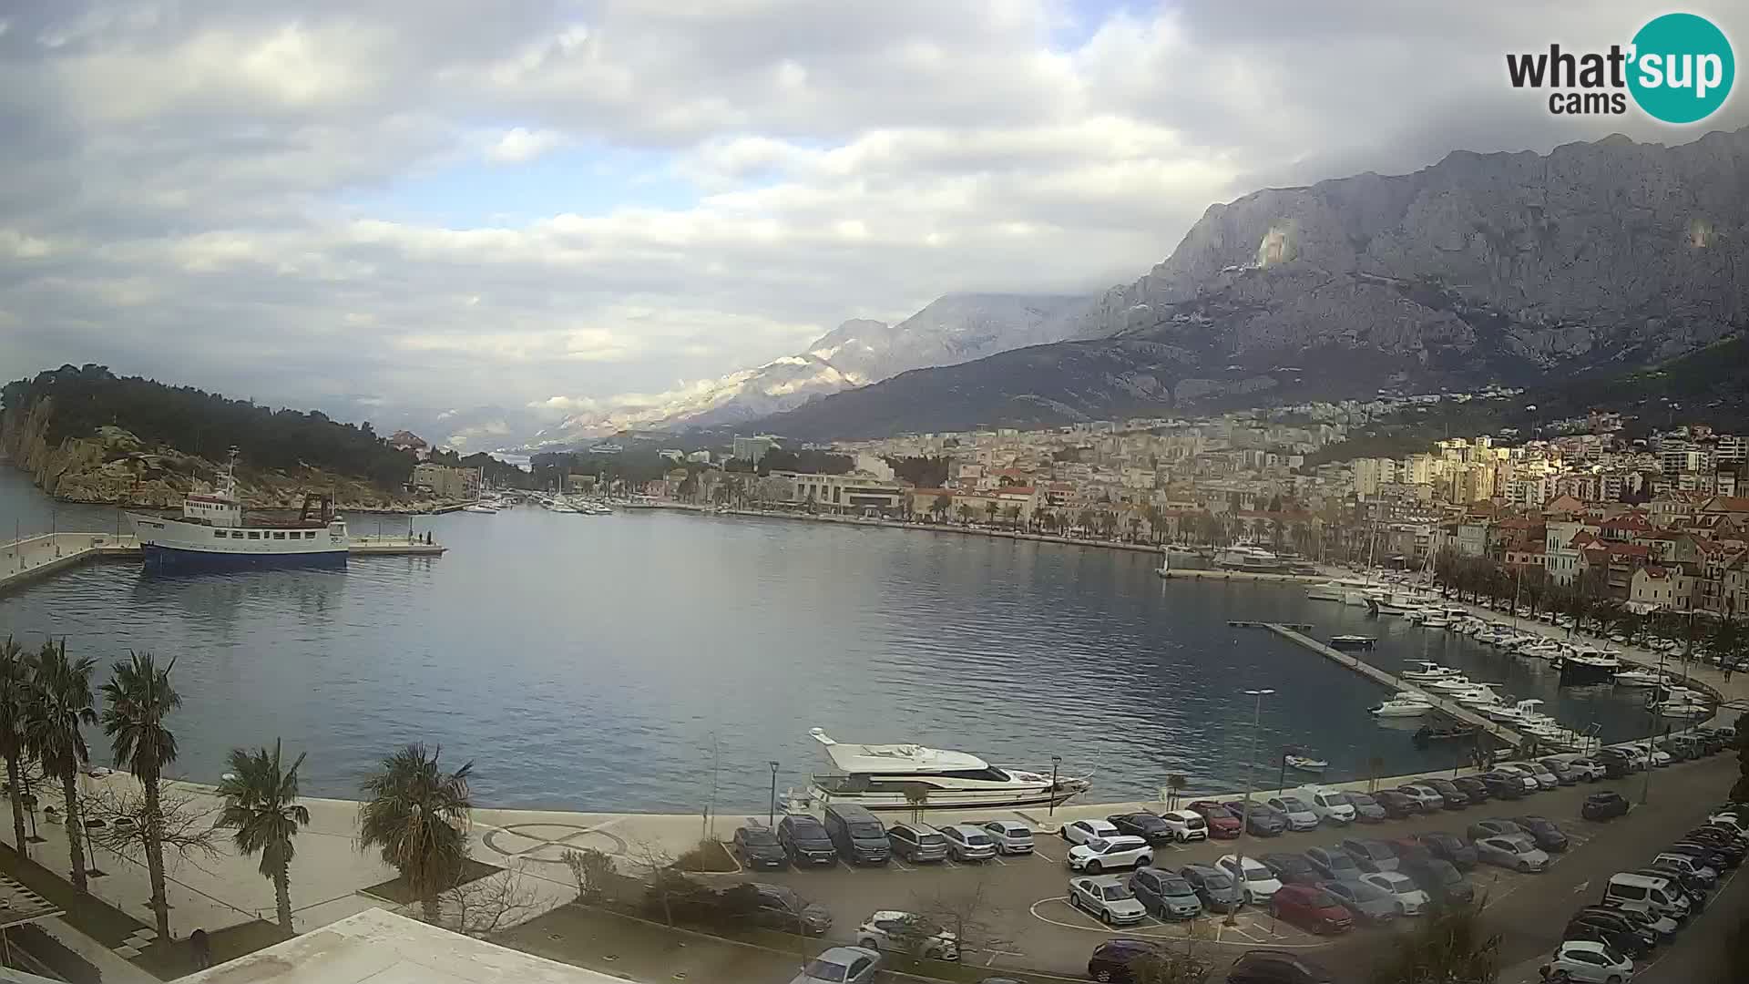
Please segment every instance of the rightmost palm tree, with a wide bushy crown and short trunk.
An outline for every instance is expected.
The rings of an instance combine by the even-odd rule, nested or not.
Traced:
[[[415,742],[388,755],[381,770],[364,781],[371,798],[359,805],[359,849],[381,851],[383,863],[401,872],[434,924],[437,893],[455,884],[467,860],[467,777],[474,770],[469,762],[442,772],[441,753]]]

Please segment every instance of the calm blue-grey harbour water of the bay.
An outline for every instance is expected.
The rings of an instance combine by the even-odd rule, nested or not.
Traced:
[[[406,529],[352,517],[353,532]],[[0,597],[0,634],[65,634],[105,667],[129,648],[177,657],[173,772],[213,781],[226,749],[308,751],[304,790],[353,795],[397,742],[477,760],[481,804],[593,811],[724,807],[803,784],[806,739],[922,741],[999,763],[1095,770],[1095,800],[1258,784],[1303,744],[1329,777],[1450,763],[1415,723],[1380,725],[1375,685],[1230,618],[1382,636],[1373,657],[1457,665],[1543,697],[1567,723],[1634,737],[1632,692],[1562,690],[1543,664],[1467,637],[1310,602],[1301,587],[1161,581],[1149,555],[787,520],[617,513],[418,517],[442,559],[346,571],[145,576],[91,564]],[[0,531],[115,529],[115,510],[54,506],[0,466]],[[101,735],[91,735],[93,748]],[[715,763],[715,767],[714,767]],[[1289,779],[1293,781],[1293,779]]]

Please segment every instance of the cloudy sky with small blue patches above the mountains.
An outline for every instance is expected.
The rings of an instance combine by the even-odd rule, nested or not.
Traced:
[[[1258,187],[1742,126],[1742,95],[1676,128],[1506,84],[1508,51],[1663,11],[9,0],[0,376],[103,362],[481,446],[944,292],[1135,280]]]

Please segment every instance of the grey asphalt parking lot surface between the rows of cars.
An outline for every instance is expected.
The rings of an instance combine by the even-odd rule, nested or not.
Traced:
[[[1593,884],[1623,868],[1642,865],[1674,835],[1704,819],[1711,804],[1723,798],[1737,772],[1733,755],[1716,755],[1698,762],[1658,769],[1651,777],[1653,800],[1632,814],[1606,823],[1579,819],[1579,802],[1600,790],[1616,790],[1639,800],[1644,776],[1620,781],[1581,783],[1579,786],[1536,793],[1515,802],[1488,802],[1466,811],[1446,811],[1380,825],[1354,825],[1347,828],[1320,828],[1279,837],[1245,837],[1235,840],[1209,840],[1188,846],[1156,849],[1154,867],[1177,868],[1188,863],[1214,863],[1221,854],[1242,846],[1247,856],[1265,853],[1298,853],[1315,846],[1331,846],[1343,837],[1394,839],[1418,832],[1445,830],[1462,835],[1474,819],[1490,816],[1539,814],[1557,821],[1571,840],[1571,847],[1555,854],[1541,874],[1518,874],[1494,867],[1478,867],[1469,881],[1487,900],[1487,916],[1504,935],[1502,945],[1511,961],[1534,959],[1537,952],[1553,949],[1565,914],[1585,902],[1595,900]],[[1006,814],[1004,818],[1013,816]],[[888,818],[888,821],[897,818]],[[1599,839],[1607,846],[1593,846]],[[792,886],[812,902],[833,912],[833,940],[854,942],[857,926],[880,909],[929,909],[930,902],[948,900],[962,910],[971,909],[978,926],[967,931],[967,963],[992,968],[1030,968],[1069,977],[1086,973],[1086,959],[1105,937],[1142,937],[1163,942],[1196,940],[1198,947],[1217,963],[1237,958],[1252,947],[1319,951],[1319,959],[1331,965],[1364,965],[1389,933],[1413,923],[1399,919],[1392,928],[1362,928],[1345,937],[1324,938],[1272,919],[1261,909],[1247,907],[1235,924],[1228,926],[1219,914],[1205,914],[1182,923],[1165,923],[1154,917],[1140,924],[1111,928],[1067,902],[1070,872],[1063,863],[1069,844],[1055,835],[1041,833],[1032,856],[1000,856],[983,863],[939,861],[915,865],[892,860],[885,867],[848,867],[843,861],[831,868],[773,870],[742,879],[768,881]],[[1632,861],[1632,865],[1630,865]],[[1600,891],[1600,889],[1599,889]],[[978,902],[967,902],[976,896]]]

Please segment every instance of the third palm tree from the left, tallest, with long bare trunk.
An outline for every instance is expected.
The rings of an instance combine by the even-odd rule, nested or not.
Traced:
[[[182,706],[170,685],[171,658],[159,667],[152,653],[128,653],[115,660],[103,685],[103,734],[110,737],[115,767],[133,772],[145,790],[145,872],[152,881],[152,912],[157,938],[170,938],[170,900],[164,896],[164,818],[157,805],[157,777],[177,760],[177,735],[164,718]]]

